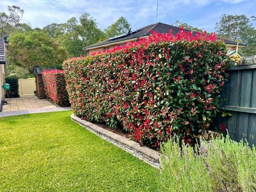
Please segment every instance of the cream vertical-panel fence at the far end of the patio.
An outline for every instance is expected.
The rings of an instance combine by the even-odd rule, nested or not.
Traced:
[[[35,79],[19,79],[18,85],[19,95],[34,95],[34,90],[36,90]]]

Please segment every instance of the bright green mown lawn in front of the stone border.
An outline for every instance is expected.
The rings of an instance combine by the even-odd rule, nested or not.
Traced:
[[[158,171],[70,119],[0,118],[0,191],[155,191]]]

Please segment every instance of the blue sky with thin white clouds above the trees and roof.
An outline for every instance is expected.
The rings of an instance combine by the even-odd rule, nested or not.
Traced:
[[[18,5],[24,10],[22,23],[32,28],[43,28],[51,23],[65,23],[71,17],[89,13],[100,29],[107,28],[123,16],[132,30],[156,23],[157,0],[1,0],[0,12],[7,12],[8,5]],[[256,15],[256,0],[159,0],[158,22],[173,24],[175,21],[214,32],[222,14]],[[256,22],[254,22],[256,27]]]

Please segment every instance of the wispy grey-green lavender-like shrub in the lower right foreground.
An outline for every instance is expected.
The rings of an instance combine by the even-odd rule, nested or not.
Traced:
[[[255,191],[256,150],[229,136],[192,147],[174,139],[162,148],[160,191]],[[182,150],[181,150],[182,149]]]

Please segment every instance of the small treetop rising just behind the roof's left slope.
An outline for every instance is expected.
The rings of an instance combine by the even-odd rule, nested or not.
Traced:
[[[130,24],[124,17],[120,17],[117,21],[111,24],[104,30],[108,38],[115,37],[122,34],[127,34],[130,29]]]

